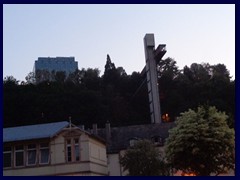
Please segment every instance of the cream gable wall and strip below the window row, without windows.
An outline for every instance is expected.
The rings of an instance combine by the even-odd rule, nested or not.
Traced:
[[[65,136],[80,137],[80,161],[66,163]],[[79,129],[62,131],[50,140],[50,164],[4,169],[4,176],[107,175],[106,145]]]

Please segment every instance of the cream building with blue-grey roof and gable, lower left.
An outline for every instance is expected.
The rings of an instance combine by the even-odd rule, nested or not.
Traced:
[[[106,143],[66,121],[3,129],[4,176],[107,175]]]

